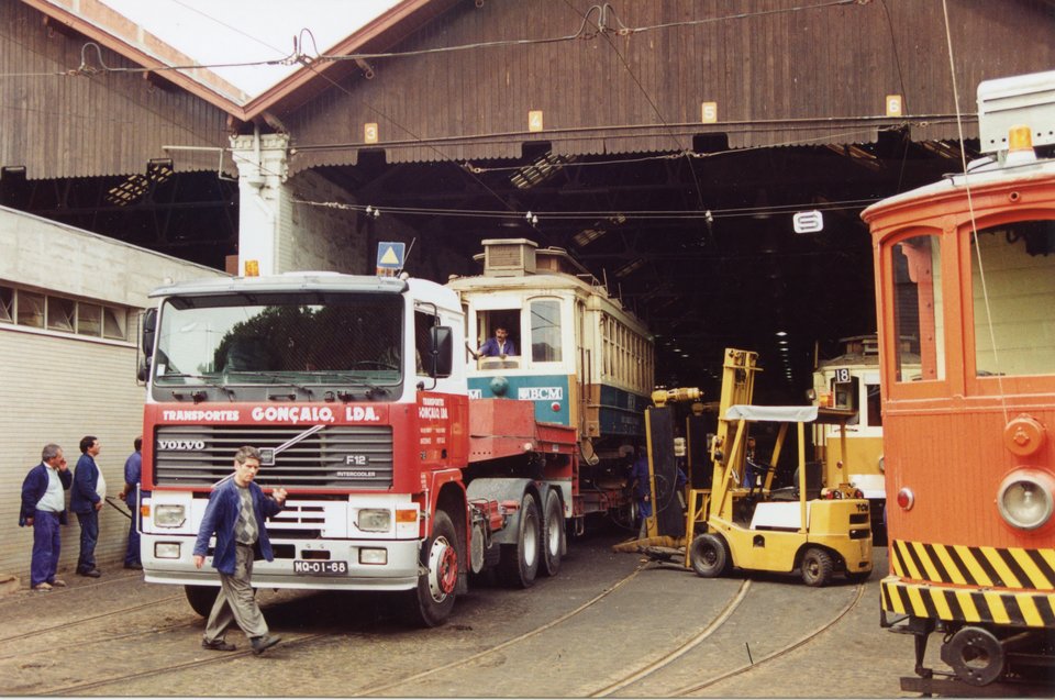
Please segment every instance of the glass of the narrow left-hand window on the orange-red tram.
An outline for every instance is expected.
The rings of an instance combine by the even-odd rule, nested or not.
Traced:
[[[945,378],[942,256],[937,236],[918,235],[892,249],[897,380]]]

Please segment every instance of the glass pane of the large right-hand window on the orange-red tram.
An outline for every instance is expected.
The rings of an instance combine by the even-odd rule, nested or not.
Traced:
[[[978,376],[1055,371],[1055,221],[980,230],[970,265]]]

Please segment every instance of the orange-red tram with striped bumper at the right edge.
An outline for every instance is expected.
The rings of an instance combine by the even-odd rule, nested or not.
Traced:
[[[1055,686],[1055,71],[978,87],[965,173],[869,224],[890,575],[903,690]],[[911,337],[911,343],[898,338]],[[928,668],[928,640],[942,635]]]

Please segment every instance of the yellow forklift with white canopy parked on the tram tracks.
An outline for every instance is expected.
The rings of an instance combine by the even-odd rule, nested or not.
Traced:
[[[689,489],[686,564],[706,578],[735,567],[799,569],[809,586],[825,586],[835,573],[853,581],[866,580],[873,567],[868,501],[848,485],[822,489],[821,463],[806,458],[807,425],[844,426],[853,411],[752,405],[757,371],[757,353],[726,348],[718,432],[710,445],[710,488]],[[751,434],[753,427],[762,426],[776,430],[768,460],[755,454]],[[780,452],[791,426],[797,467],[791,485],[775,489]],[[845,440],[845,430],[841,433]]]

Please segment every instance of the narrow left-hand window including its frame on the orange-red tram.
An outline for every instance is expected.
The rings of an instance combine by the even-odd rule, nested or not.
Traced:
[[[923,241],[929,243],[929,256],[921,248]],[[951,256],[944,251],[943,244],[941,231],[915,229],[890,241],[885,247],[884,285],[889,311],[886,319],[893,331],[888,335],[902,341],[913,338],[909,343],[899,342],[890,348],[892,352],[889,353],[888,364],[896,387],[933,385],[948,379],[944,285],[948,280],[946,267]],[[915,253],[911,262],[904,252],[907,246],[911,246],[908,249]],[[921,275],[923,279],[919,279]],[[928,290],[930,298],[925,293]],[[921,291],[924,292],[922,296]],[[930,324],[921,318],[921,310],[928,307]],[[913,321],[912,327],[907,327]],[[929,342],[923,337],[926,331],[933,331],[933,338]],[[910,365],[919,369],[914,367],[910,373]]]

